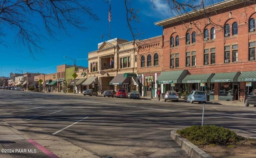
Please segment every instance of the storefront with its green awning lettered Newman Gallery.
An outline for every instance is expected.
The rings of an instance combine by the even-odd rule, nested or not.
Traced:
[[[240,100],[239,75],[240,72],[216,73],[212,77],[212,82],[214,83],[214,100]]]

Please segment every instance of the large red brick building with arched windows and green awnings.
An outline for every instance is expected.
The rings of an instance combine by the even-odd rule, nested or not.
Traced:
[[[249,0],[226,0],[156,22],[163,26],[163,72],[155,82],[162,92],[198,89],[210,99],[240,100],[256,88],[255,12]]]

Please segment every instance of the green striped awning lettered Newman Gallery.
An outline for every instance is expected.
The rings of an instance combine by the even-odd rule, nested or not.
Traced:
[[[216,73],[212,77],[212,82],[238,82],[238,76],[240,72],[223,72]]]

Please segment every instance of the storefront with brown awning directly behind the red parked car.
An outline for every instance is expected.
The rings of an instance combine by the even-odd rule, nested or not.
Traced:
[[[128,75],[126,75],[128,76]],[[110,82],[110,85],[114,85],[114,90],[126,89],[127,92],[130,92],[130,77],[124,77],[124,74],[117,74]]]

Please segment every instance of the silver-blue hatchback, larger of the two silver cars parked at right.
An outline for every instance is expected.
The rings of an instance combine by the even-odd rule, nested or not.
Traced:
[[[193,103],[198,102],[199,104],[201,102],[206,103],[207,97],[204,91],[200,90],[192,90],[190,94],[188,95],[187,102]]]

